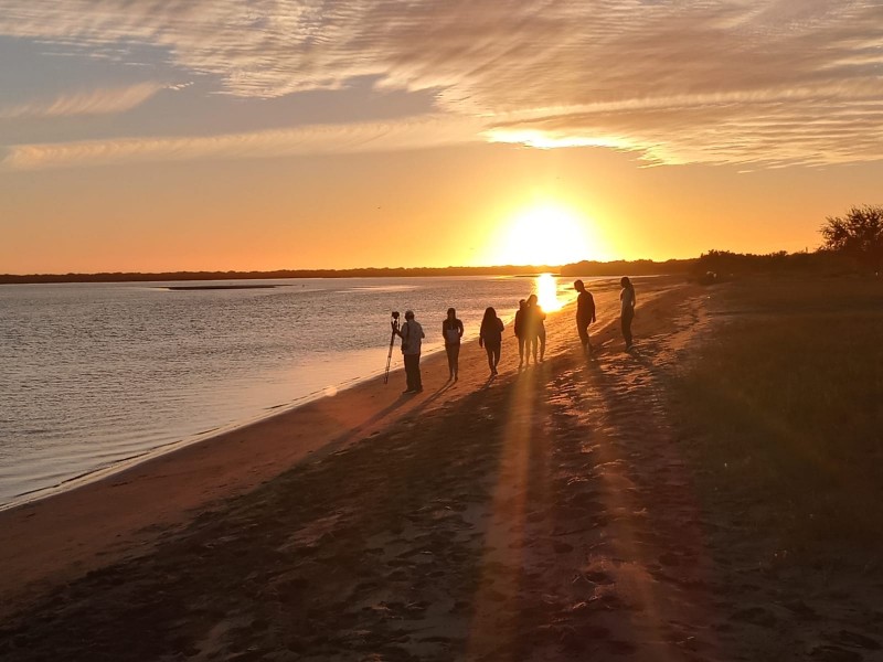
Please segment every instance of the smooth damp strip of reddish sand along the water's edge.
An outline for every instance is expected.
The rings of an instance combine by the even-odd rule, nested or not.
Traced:
[[[673,280],[681,282],[677,277]],[[666,288],[660,279],[653,282]],[[602,286],[596,296],[602,320],[597,332],[607,337],[618,334],[614,289],[618,292],[618,286]],[[550,335],[545,365],[577,342],[571,312],[567,307],[550,313],[547,325],[566,327],[566,332]],[[518,345],[510,324],[498,381],[515,378],[517,362]],[[460,381],[446,384],[447,366],[439,351],[422,361],[425,392],[421,396],[400,394],[404,376],[398,369],[391,372],[385,386],[382,374],[366,378],[334,397],[274,412],[74,489],[0,511],[0,528],[7,533],[0,549],[0,565],[6,568],[0,594],[8,596],[0,611],[12,610],[91,569],[143,554],[198,514],[292,467],[364,441],[408,416],[456,407],[464,397],[491,386],[485,352],[475,339],[464,343],[460,365]]]

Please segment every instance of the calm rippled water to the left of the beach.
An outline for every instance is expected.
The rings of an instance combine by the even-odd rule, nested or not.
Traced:
[[[536,289],[510,277],[175,285],[208,284],[0,287],[0,504],[379,374],[391,310],[414,309],[432,351],[449,306],[476,335],[487,306],[508,320]]]

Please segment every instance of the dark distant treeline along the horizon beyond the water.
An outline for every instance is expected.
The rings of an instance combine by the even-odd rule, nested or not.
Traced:
[[[103,274],[31,274],[17,276],[0,275],[2,284],[28,282],[130,282],[168,280],[257,280],[281,278],[392,278],[411,276],[533,276],[552,273],[564,277],[577,276],[650,276],[684,274],[702,278],[713,273],[719,277],[740,274],[760,273],[812,273],[849,274],[860,270],[858,263],[831,250],[815,253],[769,253],[766,255],[709,250],[700,257],[655,261],[638,259],[632,261],[588,261],[556,266],[514,266],[497,267],[397,267],[360,269],[279,269],[276,271],[163,271],[157,274],[103,273]]]

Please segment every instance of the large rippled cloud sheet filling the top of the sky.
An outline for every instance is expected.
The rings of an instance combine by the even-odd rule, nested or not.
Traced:
[[[376,76],[534,147],[656,163],[883,158],[879,0],[6,0],[0,34],[121,61],[120,44],[159,46],[235,97]]]

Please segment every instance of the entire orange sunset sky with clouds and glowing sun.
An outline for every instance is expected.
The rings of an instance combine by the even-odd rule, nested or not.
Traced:
[[[0,273],[815,249],[881,0],[0,0]]]

